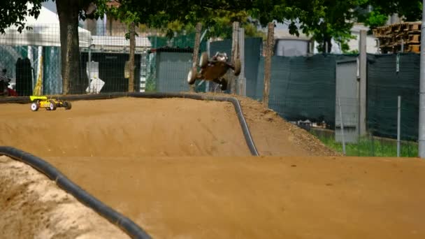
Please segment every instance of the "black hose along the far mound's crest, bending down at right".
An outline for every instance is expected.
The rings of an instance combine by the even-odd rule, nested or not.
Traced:
[[[259,156],[257,147],[255,147],[254,140],[252,139],[250,129],[243,116],[242,108],[238,99],[235,97],[225,96],[209,96],[203,94],[189,94],[189,93],[161,93],[161,92],[117,92],[117,93],[101,93],[101,94],[80,94],[80,95],[65,95],[57,96],[58,99],[67,101],[82,101],[82,100],[96,100],[96,99],[113,99],[119,97],[136,97],[136,98],[150,98],[150,99],[162,99],[162,98],[187,98],[196,100],[208,100],[208,101],[228,101],[233,104],[236,114],[238,115],[239,124],[245,137],[245,142],[253,156]],[[56,97],[53,97],[56,98]],[[29,96],[18,96],[18,97],[6,97],[0,99],[0,103],[29,103]]]

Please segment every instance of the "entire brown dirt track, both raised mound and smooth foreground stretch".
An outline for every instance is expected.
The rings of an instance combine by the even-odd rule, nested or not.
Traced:
[[[285,157],[250,157],[230,103],[188,99],[0,105],[0,145],[47,159],[154,238],[425,237],[424,162],[333,157],[242,105],[260,154]]]

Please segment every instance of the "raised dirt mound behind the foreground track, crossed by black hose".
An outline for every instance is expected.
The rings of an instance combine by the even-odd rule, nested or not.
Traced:
[[[315,137],[262,108],[241,103],[261,155],[334,155]],[[38,156],[249,156],[231,103],[120,98],[74,101],[72,110],[31,112],[6,104],[0,145]]]

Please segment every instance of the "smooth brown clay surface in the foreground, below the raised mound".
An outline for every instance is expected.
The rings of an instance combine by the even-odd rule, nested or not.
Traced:
[[[425,238],[421,159],[48,161],[153,238]]]

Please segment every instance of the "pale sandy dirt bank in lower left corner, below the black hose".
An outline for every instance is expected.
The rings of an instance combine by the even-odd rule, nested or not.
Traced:
[[[31,166],[0,156],[0,238],[129,238]]]

